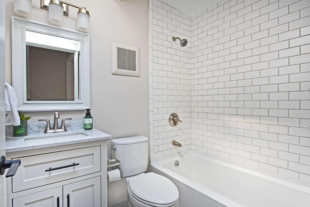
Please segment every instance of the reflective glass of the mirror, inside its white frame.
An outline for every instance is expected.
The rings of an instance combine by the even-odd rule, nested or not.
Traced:
[[[79,54],[79,41],[26,30],[27,101],[79,100]]]

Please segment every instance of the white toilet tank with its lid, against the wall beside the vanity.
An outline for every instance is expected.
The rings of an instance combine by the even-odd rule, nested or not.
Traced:
[[[147,137],[112,139],[111,151],[112,159],[120,161],[121,177],[134,176],[146,171],[149,157]]]

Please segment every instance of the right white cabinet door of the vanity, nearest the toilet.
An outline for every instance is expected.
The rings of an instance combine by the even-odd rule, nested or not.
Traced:
[[[101,177],[63,186],[63,207],[100,207]]]

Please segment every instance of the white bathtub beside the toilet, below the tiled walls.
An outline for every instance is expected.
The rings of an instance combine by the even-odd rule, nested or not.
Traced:
[[[310,207],[309,183],[194,150],[152,160],[151,171],[174,182],[179,207]]]

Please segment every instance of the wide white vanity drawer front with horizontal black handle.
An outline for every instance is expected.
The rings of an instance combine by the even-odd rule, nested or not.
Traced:
[[[100,146],[16,159],[21,160],[21,165],[12,177],[13,192],[101,171]]]

